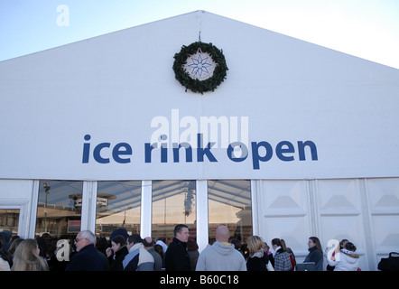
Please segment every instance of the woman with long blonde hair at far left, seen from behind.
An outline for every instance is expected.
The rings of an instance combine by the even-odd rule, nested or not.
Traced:
[[[24,239],[15,249],[11,271],[49,271],[49,266],[39,253],[35,239]]]

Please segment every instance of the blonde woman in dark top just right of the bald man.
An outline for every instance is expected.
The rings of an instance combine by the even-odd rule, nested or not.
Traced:
[[[269,256],[264,251],[264,240],[259,236],[250,236],[246,239],[249,257],[246,261],[248,271],[274,271],[269,262]]]

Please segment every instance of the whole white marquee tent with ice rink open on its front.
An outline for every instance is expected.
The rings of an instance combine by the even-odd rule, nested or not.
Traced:
[[[203,94],[172,70],[199,41],[228,67]],[[398,108],[399,70],[182,14],[0,62],[0,209],[20,208],[19,233],[33,236],[39,180],[84,181],[84,192],[97,181],[251,180],[254,234],[287,239],[299,259],[311,236],[350,238],[361,267],[376,270],[399,250]],[[187,142],[191,158],[173,151]],[[90,208],[82,228],[93,228]]]

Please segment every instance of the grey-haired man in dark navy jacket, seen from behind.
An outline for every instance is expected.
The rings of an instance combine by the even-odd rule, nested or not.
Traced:
[[[104,271],[105,259],[94,247],[96,236],[88,230],[79,232],[75,239],[76,253],[70,259],[65,271]]]

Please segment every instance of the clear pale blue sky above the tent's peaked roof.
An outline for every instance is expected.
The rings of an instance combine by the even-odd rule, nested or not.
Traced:
[[[196,10],[399,69],[399,0],[0,0],[0,61]]]

